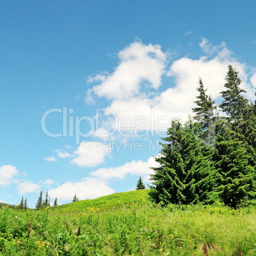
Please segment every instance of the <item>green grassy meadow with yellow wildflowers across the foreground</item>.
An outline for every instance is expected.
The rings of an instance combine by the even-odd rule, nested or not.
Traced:
[[[256,255],[256,207],[160,208],[146,190],[0,210],[0,255]]]

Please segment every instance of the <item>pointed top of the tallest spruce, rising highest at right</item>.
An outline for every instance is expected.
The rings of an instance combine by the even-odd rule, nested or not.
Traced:
[[[240,88],[241,80],[238,77],[238,71],[232,65],[229,65],[225,81],[224,87],[227,90],[220,92],[224,99],[220,104],[220,108],[227,114],[229,122],[235,121],[237,123],[243,117],[243,111],[248,104],[248,100],[242,95],[246,91]]]

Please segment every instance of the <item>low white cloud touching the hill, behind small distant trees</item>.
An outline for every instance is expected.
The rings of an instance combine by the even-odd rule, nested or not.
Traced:
[[[71,182],[60,185],[60,187],[48,190],[50,197],[57,197],[58,200],[72,200],[74,195],[79,200],[95,199],[115,193],[103,180],[97,178],[83,178],[81,181]]]

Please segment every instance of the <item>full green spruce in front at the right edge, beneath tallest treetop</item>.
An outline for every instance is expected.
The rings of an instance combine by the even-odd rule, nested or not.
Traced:
[[[220,120],[213,155],[217,169],[216,191],[227,206],[237,206],[256,198],[256,173],[250,165],[247,143]]]

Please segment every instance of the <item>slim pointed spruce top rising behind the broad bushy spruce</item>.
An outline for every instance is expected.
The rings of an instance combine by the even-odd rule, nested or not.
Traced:
[[[217,115],[217,106],[211,96],[206,94],[207,89],[204,89],[202,78],[199,78],[198,83],[197,91],[199,96],[196,97],[197,101],[194,102],[197,104],[197,107],[192,108],[192,111],[196,114],[194,119],[200,125],[200,137],[204,140],[208,138],[208,142],[210,142],[215,136],[213,129]]]

